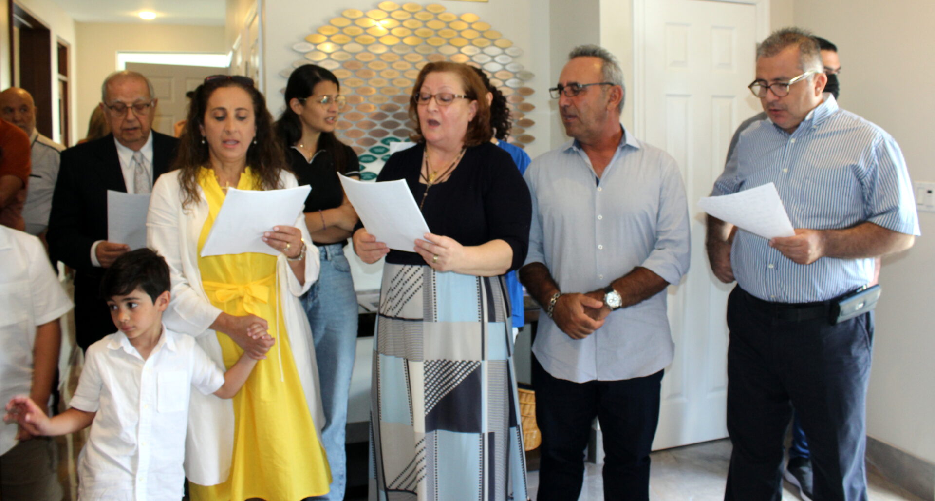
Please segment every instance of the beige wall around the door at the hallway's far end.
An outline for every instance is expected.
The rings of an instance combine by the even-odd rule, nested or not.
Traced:
[[[76,22],[75,33],[78,138],[88,131],[91,111],[101,101],[101,82],[117,68],[118,51],[227,52],[223,26]]]

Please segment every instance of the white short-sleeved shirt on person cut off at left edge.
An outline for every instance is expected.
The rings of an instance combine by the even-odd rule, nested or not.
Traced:
[[[28,395],[36,326],[72,307],[39,239],[0,226],[0,405]],[[0,422],[0,455],[16,445],[15,422]]]

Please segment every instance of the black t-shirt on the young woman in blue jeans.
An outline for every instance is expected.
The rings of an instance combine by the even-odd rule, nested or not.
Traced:
[[[353,153],[350,146],[342,144],[341,147],[344,148],[344,157],[347,161],[344,174],[359,174],[360,163],[357,161],[357,155]],[[323,211],[334,209],[344,201],[344,191],[341,189],[338,171],[335,170],[335,159],[331,152],[319,150],[311,157],[311,162],[295,148],[288,148],[286,155],[298,179],[298,184],[311,185],[311,193],[305,200],[304,212],[316,213],[319,209]]]

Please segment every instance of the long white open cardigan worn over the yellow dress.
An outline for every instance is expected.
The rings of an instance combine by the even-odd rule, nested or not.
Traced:
[[[194,336],[209,357],[223,368],[221,345],[218,343],[216,332],[209,328],[222,311],[209,302],[198,271],[198,237],[208,219],[208,201],[199,186],[201,197],[198,202],[182,210],[181,201],[184,195],[179,183],[179,173],[179,170],[167,172],[152,186],[150,212],[146,221],[147,243],[165,258],[172,276],[172,300],[163,314],[163,322],[165,327],[172,331]],[[285,188],[298,185],[295,176],[289,172],[283,171],[280,180]],[[321,435],[324,413],[318,387],[315,346],[311,341],[309,319],[298,300],[298,296],[309,290],[311,284],[318,279],[320,262],[318,250],[311,244],[304,214],[298,214],[295,227],[302,230],[302,237],[309,245],[305,255],[305,284],[299,285],[285,256],[280,255],[276,267],[279,298],[309,412],[315,420],[316,432]],[[270,334],[276,335],[275,332]],[[260,361],[276,362],[274,358]],[[275,426],[275,423],[269,425]],[[270,444],[270,447],[275,445]],[[185,441],[186,477],[199,485],[223,482],[230,472],[233,448],[232,401],[193,391],[189,405],[188,436]]]

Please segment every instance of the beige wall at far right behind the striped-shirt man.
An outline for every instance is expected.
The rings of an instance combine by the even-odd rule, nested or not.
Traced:
[[[795,22],[834,42],[841,107],[899,142],[914,181],[935,181],[931,111],[935,9],[930,0],[795,0]],[[935,214],[919,214],[922,237],[884,259],[877,308],[868,434],[935,463]]]

